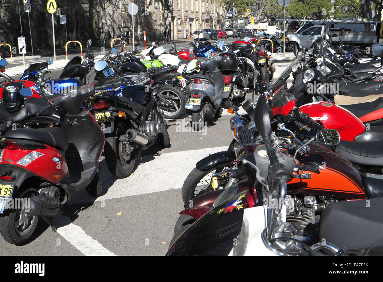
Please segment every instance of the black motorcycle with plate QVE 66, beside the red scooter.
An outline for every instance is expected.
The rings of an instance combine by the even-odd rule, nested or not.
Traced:
[[[155,141],[162,148],[170,147],[169,134],[149,74],[131,74],[130,80],[123,82],[126,87],[122,89],[122,95],[117,96],[113,93],[116,91],[113,69],[107,68],[105,61],[96,64],[110,79],[112,89],[107,90],[106,95],[95,96],[90,105],[105,134],[106,164],[117,178],[126,178],[131,175],[135,156],[141,150],[146,150]]]

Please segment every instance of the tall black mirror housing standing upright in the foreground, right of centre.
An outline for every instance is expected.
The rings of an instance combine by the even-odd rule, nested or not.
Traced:
[[[255,106],[254,122],[260,135],[264,140],[267,150],[271,149],[271,124],[268,116],[268,104],[266,97],[261,95],[258,97],[257,105]]]

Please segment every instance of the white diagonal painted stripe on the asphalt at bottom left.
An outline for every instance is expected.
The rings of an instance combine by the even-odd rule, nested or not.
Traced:
[[[105,249],[98,241],[87,235],[80,226],[73,224],[70,218],[64,216],[61,211],[56,214],[54,221],[57,224],[56,232],[85,256],[115,256],[113,252]],[[46,222],[49,224],[49,221],[46,220]]]

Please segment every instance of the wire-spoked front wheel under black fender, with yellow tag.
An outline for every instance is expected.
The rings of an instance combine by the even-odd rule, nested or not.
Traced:
[[[211,177],[210,182],[208,181],[209,176],[208,174],[213,174],[216,172],[222,172],[224,169],[229,168],[231,163],[224,163],[223,165],[218,165],[218,170],[216,167],[211,168],[207,172],[202,172],[198,168],[194,168],[186,178],[185,182],[182,185],[182,201],[185,204],[185,207],[188,207],[190,204],[190,201],[193,200],[195,197],[203,195],[205,193],[208,193],[210,191],[213,191],[213,186],[211,186]],[[204,178],[207,178],[205,180]],[[202,180],[202,182],[201,182]],[[201,183],[200,183],[201,182]],[[222,178],[220,182],[218,182],[218,187],[225,186],[226,185],[226,176]],[[205,185],[205,187],[202,187],[201,190],[197,190],[196,188],[198,184],[200,183],[200,186],[205,185],[205,183],[210,183],[208,186]]]

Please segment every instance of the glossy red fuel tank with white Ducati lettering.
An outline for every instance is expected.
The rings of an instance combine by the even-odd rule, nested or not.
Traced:
[[[327,129],[339,131],[340,140],[354,141],[365,131],[363,122],[348,110],[330,102],[314,102],[299,107],[313,120],[320,120]]]

